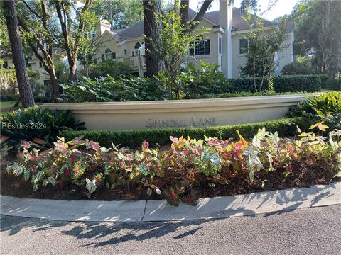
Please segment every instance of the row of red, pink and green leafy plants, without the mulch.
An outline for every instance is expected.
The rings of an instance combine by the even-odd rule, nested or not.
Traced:
[[[310,127],[314,128],[321,133],[327,127],[318,123]],[[152,149],[145,141],[139,150],[115,145],[107,149],[82,137],[69,142],[58,137],[48,150],[23,142],[18,161],[9,162],[6,170],[30,180],[33,191],[41,185],[63,188],[76,184],[91,198],[98,189],[130,187],[144,190],[148,196],[156,193],[172,205],[178,205],[180,200],[195,205],[197,188],[229,185],[241,173],[247,174],[251,183],[256,180],[266,185],[260,171],[281,170],[286,176],[293,162],[307,159],[323,162],[341,177],[340,130],[333,130],[328,138],[299,129],[299,139],[281,138],[265,128],[250,141],[238,135],[237,141],[171,137],[169,149]]]

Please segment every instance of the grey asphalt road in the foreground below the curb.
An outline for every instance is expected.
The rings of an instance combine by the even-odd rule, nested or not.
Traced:
[[[83,223],[1,216],[1,254],[340,254],[341,205],[224,220]]]

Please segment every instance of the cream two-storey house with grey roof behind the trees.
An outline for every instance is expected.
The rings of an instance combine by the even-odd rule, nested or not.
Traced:
[[[190,10],[190,17],[196,15]],[[232,7],[229,1],[220,1],[220,11],[205,13],[199,27],[211,28],[203,40],[195,44],[188,52],[187,62],[199,66],[200,61],[219,64],[226,77],[239,77],[239,67],[246,62],[245,53],[248,41],[243,34],[249,32],[250,23],[244,20],[239,8]],[[264,21],[264,27],[278,26],[271,21]],[[286,64],[293,62],[293,23],[287,24],[286,50],[278,52],[278,62],[275,72],[280,72]],[[144,45],[144,21],[129,28],[110,30],[107,21],[101,21],[97,28],[97,52],[95,62],[115,59],[125,62],[134,70],[139,71],[139,48]],[[146,69],[144,56],[141,66]]]

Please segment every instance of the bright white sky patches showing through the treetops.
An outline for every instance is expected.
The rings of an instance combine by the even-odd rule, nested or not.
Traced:
[[[234,7],[239,8],[240,2],[242,0],[234,0]],[[190,8],[193,8],[193,10],[197,9],[197,2],[198,1],[190,1]],[[290,14],[293,10],[293,6],[298,2],[298,0],[278,0],[278,3],[271,8],[271,11],[268,11],[267,13],[264,13],[262,15],[262,18],[266,18],[269,21],[274,20],[274,18],[277,18],[279,16],[283,16],[285,14]],[[264,10],[267,8],[269,4],[269,0],[259,0],[259,6],[261,10]],[[212,8],[210,8],[210,11],[217,11],[219,10],[219,1],[214,0],[212,3]]]

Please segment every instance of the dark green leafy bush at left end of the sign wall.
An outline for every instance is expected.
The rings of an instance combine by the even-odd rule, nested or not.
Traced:
[[[19,109],[0,119],[1,135],[10,137],[9,142],[40,138],[55,141],[60,130],[82,130],[84,123],[76,121],[71,111],[52,111],[38,106]]]

